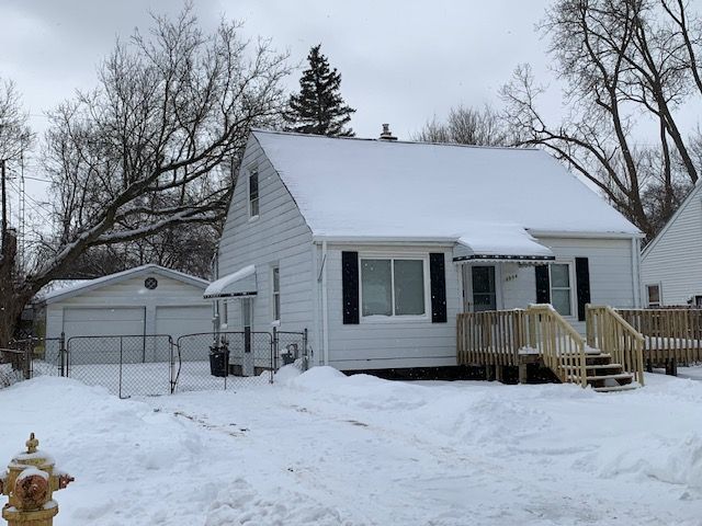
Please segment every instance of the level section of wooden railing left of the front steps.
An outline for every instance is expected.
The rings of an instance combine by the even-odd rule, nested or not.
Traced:
[[[521,309],[458,315],[458,363],[519,365],[519,350],[526,345],[525,319]]]

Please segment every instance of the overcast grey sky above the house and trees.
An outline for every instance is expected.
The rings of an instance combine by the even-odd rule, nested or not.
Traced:
[[[220,16],[244,22],[247,36],[272,39],[304,66],[321,43],[342,75],[341,92],[358,111],[351,125],[376,137],[389,123],[400,139],[451,106],[497,101],[497,91],[519,62],[531,62],[543,81],[552,77],[534,25],[547,0],[331,1],[195,0],[205,28]],[[0,77],[23,94],[37,132],[44,112],[76,89],[95,85],[95,69],[135,27],[147,30],[149,11],[176,13],[176,0],[0,0]],[[301,70],[287,80],[298,88]],[[544,101],[559,113],[559,100]],[[35,167],[30,167],[35,172]],[[37,201],[43,187],[29,184]]]

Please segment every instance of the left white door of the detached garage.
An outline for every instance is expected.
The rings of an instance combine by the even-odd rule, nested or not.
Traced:
[[[70,363],[140,362],[144,356],[144,307],[64,309],[64,332]],[[132,338],[107,338],[117,335]]]

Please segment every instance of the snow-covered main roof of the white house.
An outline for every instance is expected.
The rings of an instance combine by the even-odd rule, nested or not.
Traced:
[[[641,233],[540,149],[253,137],[316,237],[452,239],[480,252],[503,231],[500,250],[519,252],[537,244],[526,230]]]

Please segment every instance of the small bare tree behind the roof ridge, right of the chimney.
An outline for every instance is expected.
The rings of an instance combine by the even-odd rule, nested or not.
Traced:
[[[499,112],[489,105],[482,108],[453,107],[445,122],[434,117],[424,124],[414,139],[478,146],[508,146],[517,141]]]

